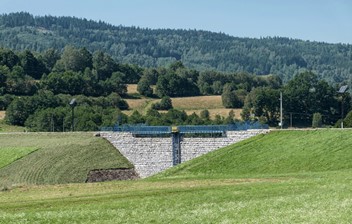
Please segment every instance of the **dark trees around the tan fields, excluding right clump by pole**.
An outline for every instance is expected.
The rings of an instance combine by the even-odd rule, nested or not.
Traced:
[[[136,96],[127,94],[127,84],[138,84],[137,97],[161,101],[146,114],[135,111],[128,117],[121,113],[129,108],[124,98]],[[277,76],[199,72],[181,61],[168,67],[142,68],[121,64],[101,51],[91,53],[72,46],[66,46],[62,53],[55,49],[38,53],[0,48],[0,110],[6,110],[6,122],[31,131],[70,130],[72,99],[76,99],[79,117],[75,130],[81,131],[113,126],[119,119],[123,123],[151,125],[231,123],[233,113],[215,120],[207,111],[200,117],[188,116],[172,108],[170,97],[223,94],[224,105],[236,108],[244,105],[252,89],[280,86]],[[169,112],[160,114],[158,110]]]

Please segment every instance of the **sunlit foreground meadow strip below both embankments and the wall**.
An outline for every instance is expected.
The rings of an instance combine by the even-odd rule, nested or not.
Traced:
[[[41,223],[348,223],[350,171],[261,179],[125,181],[0,193],[0,220]]]

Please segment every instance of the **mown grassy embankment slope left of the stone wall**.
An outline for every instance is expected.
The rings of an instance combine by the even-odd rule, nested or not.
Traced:
[[[0,187],[84,183],[90,170],[131,167],[92,133],[0,134]]]

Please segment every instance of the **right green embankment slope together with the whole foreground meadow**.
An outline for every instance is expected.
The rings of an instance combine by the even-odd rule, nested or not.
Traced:
[[[0,220],[349,223],[351,130],[257,136],[143,181],[0,192]]]

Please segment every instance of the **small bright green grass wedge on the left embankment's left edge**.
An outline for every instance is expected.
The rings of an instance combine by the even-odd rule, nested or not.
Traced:
[[[36,151],[36,147],[0,147],[0,169]]]

